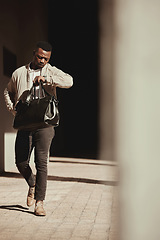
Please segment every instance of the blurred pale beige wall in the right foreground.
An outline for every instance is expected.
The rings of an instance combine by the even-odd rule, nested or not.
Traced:
[[[160,1],[116,0],[115,159],[121,239],[160,238]]]

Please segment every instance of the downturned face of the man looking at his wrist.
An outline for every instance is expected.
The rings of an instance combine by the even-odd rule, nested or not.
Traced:
[[[48,62],[51,57],[51,51],[45,51],[42,48],[38,48],[34,52],[33,56],[33,64],[35,69],[43,68]]]

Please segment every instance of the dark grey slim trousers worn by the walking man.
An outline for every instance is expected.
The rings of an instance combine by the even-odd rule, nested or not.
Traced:
[[[54,137],[54,128],[42,128],[35,131],[18,131],[15,142],[16,165],[30,187],[35,185],[35,199],[44,200],[47,186],[47,161],[49,149]],[[34,148],[36,179],[29,166]]]

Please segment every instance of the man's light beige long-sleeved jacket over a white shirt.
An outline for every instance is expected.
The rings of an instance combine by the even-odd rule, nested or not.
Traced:
[[[45,76],[47,83],[46,91],[54,95],[56,87],[70,88],[73,85],[73,78],[47,63],[41,70],[41,76]],[[14,107],[22,94],[30,89],[29,64],[15,70],[4,90],[4,98],[7,109],[15,115]]]

